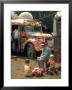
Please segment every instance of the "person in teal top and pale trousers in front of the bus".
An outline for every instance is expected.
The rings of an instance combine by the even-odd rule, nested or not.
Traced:
[[[48,47],[48,43],[47,40],[46,42],[43,44],[44,48],[42,50],[41,56],[37,58],[38,60],[38,64],[40,68],[43,68],[44,71],[47,70],[47,61],[49,59],[49,56],[51,54],[51,50]]]

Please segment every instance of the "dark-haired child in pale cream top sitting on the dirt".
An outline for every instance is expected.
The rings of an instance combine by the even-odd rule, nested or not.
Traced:
[[[26,77],[30,77],[32,76],[32,65],[30,64],[30,61],[29,60],[26,60],[25,61],[25,65],[24,65],[24,75]]]

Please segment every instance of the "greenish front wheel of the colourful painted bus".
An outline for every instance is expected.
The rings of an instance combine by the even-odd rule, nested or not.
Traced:
[[[28,45],[27,45],[27,57],[28,57],[29,59],[34,59],[34,58],[36,58],[36,51],[34,50],[32,44],[28,44]]]

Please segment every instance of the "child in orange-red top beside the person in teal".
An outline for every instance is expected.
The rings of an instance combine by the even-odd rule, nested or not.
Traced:
[[[51,75],[53,75],[54,73],[57,74],[57,70],[55,68],[55,57],[53,54],[50,55],[50,58],[49,58],[47,64],[48,64],[48,72]]]

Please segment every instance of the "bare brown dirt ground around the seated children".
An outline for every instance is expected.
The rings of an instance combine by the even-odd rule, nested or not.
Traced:
[[[44,73],[42,77],[25,77],[24,76],[24,62],[26,58],[24,57],[17,57],[11,58],[11,79],[61,79],[61,72],[58,71],[58,74],[50,75]],[[38,63],[36,60],[30,60],[33,67],[38,66]],[[60,63],[56,63],[56,67],[60,67]]]

